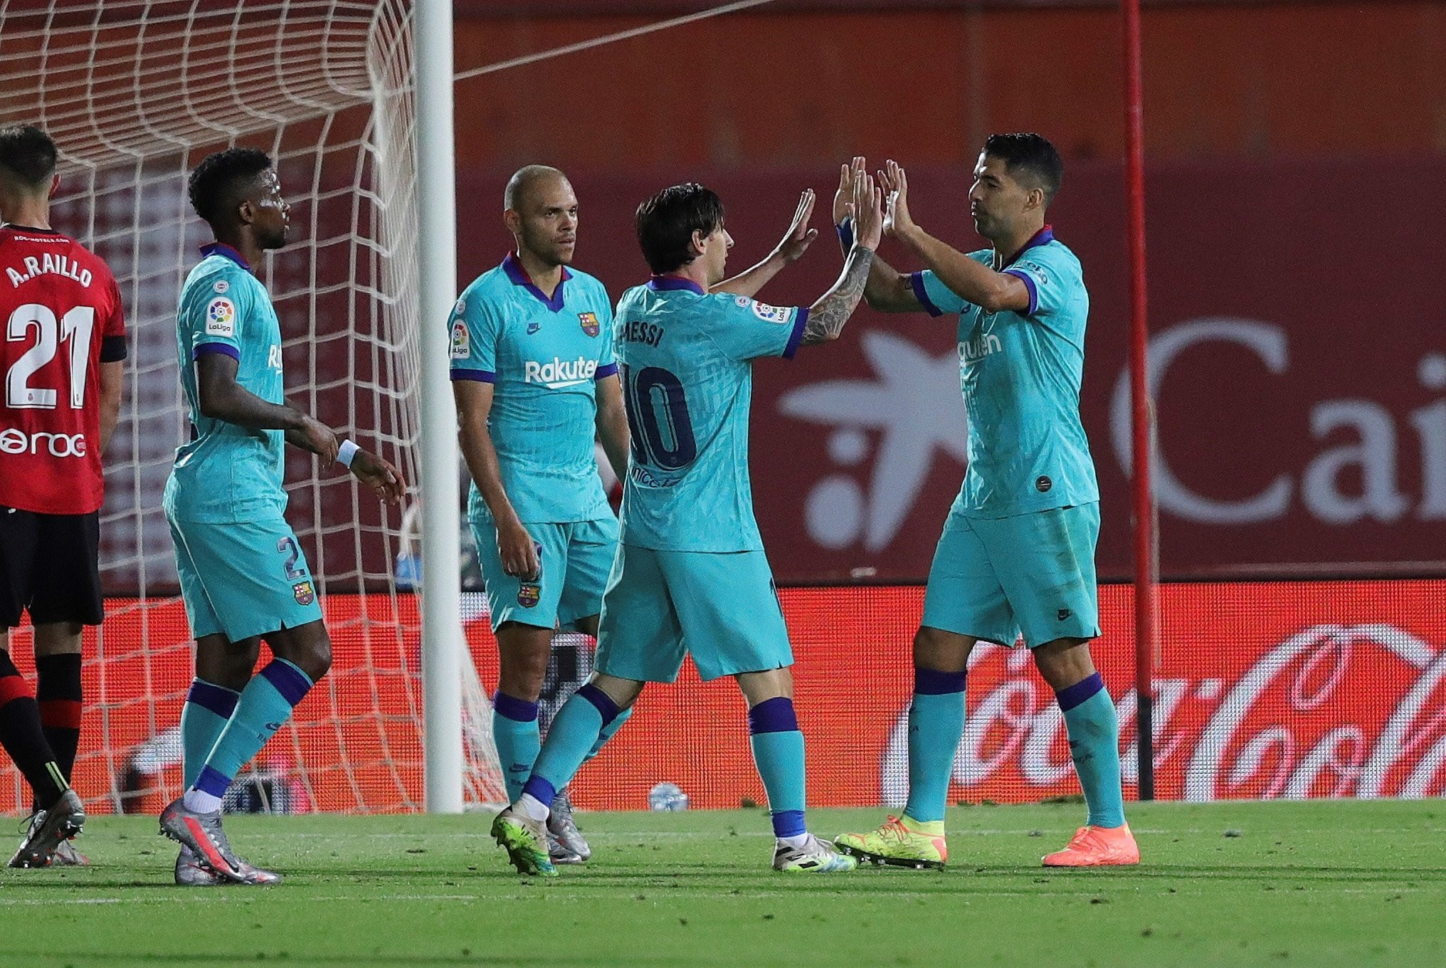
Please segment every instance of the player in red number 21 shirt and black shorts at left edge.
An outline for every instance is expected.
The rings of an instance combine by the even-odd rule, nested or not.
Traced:
[[[51,229],[56,149],[0,127],[0,745],[35,791],[10,867],[84,864],[69,776],[81,729],[81,629],[104,616],[100,456],[120,409],[126,324],[106,263]],[[35,627],[36,695],[9,629]],[[36,702],[39,700],[39,702]]]

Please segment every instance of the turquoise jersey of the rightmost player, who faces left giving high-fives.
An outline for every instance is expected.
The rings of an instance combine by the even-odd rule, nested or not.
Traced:
[[[992,265],[993,252],[969,253]],[[914,295],[933,315],[959,314],[959,376],[969,469],[954,506],[979,518],[1099,501],[1080,423],[1089,292],[1080,260],[1045,226],[1002,269],[1030,289],[1022,313],[985,313],[931,272]]]

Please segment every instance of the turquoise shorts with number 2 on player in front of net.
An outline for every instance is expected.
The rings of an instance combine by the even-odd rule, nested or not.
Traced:
[[[321,621],[307,554],[285,518],[171,519],[181,598],[195,638],[228,641]]]

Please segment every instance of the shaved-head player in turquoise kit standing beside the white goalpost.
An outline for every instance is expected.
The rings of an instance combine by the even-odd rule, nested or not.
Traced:
[[[503,221],[516,250],[469,285],[451,317],[451,378],[471,472],[469,518],[487,585],[500,673],[492,699],[508,797],[541,748],[538,700],[552,634],[597,635],[617,518],[597,475],[594,434],[628,470],[628,415],[603,284],[571,269],[577,195],[555,168],[508,182]],[[616,719],[609,735],[622,726]],[[606,739],[606,736],[603,736]],[[555,862],[591,851],[565,793],[548,819]]]

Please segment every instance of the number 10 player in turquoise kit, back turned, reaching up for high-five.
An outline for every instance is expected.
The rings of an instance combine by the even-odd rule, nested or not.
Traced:
[[[748,475],[752,363],[837,339],[878,246],[879,191],[853,187],[857,240],[843,275],[807,308],[753,295],[785,262],[778,250],[723,281],[733,245],[723,204],[701,185],[674,185],[638,208],[654,278],[617,304],[617,354],[632,425],[622,548],[603,596],[597,673],[552,722],[523,793],[493,836],[523,874],[554,875],[542,844],[552,797],[602,731],[645,683],[677,679],[691,654],[704,679],[733,676],[748,700],[753,760],[772,816],[774,868],[833,873],[853,858],[804,822],[804,738],[792,705],[792,650],[763,554]],[[804,192],[785,240],[792,258],[814,239]]]

